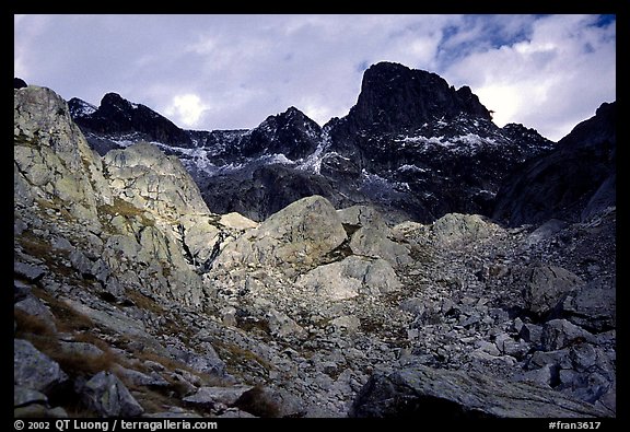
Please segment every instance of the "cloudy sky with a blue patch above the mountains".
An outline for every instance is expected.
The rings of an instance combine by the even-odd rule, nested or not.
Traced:
[[[187,129],[253,128],[295,106],[324,125],[396,61],[469,85],[557,140],[616,100],[610,15],[15,15],[14,73],[66,100],[107,92]]]

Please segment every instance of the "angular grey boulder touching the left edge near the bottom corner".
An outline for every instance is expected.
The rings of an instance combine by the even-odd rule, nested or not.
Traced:
[[[59,364],[23,339],[13,340],[13,383],[18,386],[48,393],[66,382],[68,375]]]

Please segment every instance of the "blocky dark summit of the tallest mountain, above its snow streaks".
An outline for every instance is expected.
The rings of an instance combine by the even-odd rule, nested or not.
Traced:
[[[365,70],[361,94],[347,118],[355,130],[395,132],[459,114],[491,118],[468,86],[455,90],[436,73],[383,61]]]

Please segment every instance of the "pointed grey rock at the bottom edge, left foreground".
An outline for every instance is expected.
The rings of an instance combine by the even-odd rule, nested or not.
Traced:
[[[83,402],[103,417],[137,417],[144,409],[125,384],[109,372],[98,372],[81,389]]]

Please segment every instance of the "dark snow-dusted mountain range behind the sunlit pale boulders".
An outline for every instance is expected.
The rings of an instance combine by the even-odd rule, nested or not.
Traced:
[[[490,215],[502,179],[553,148],[522,125],[497,127],[469,87],[390,62],[370,67],[350,113],[324,127],[295,107],[252,130],[208,132],[115,94],[98,108],[69,105],[101,154],[154,142],[183,161],[210,209],[257,221],[313,194],[336,207],[376,206],[394,222]]]

